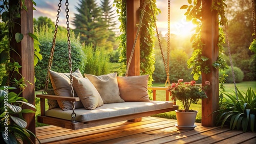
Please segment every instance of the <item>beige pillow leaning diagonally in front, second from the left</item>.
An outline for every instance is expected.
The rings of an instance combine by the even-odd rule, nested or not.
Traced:
[[[73,82],[74,90],[84,108],[92,110],[103,105],[99,92],[88,78],[73,77]]]

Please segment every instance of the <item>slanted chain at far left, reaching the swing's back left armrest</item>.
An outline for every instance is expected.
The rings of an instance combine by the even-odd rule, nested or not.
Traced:
[[[53,40],[52,40],[52,48],[51,48],[51,55],[48,61],[48,68],[47,69],[51,69],[52,67],[52,60],[53,60],[53,55],[54,55],[54,49],[55,49],[55,44],[56,44],[56,34],[58,32],[58,22],[59,22],[59,13],[60,13],[60,7],[61,7],[61,1],[59,0],[59,4],[58,4],[58,10],[57,10],[57,19],[56,19],[56,24],[55,24],[55,30],[54,30],[54,36],[53,36]],[[50,78],[50,72],[49,70],[47,70],[47,76],[46,76],[46,84],[45,84],[45,89],[44,91],[42,91],[42,94],[47,94],[47,89],[48,89],[48,85],[49,85],[49,78]]]

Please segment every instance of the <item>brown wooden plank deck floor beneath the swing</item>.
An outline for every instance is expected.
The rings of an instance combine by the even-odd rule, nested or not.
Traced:
[[[143,117],[141,122],[118,122],[80,130],[55,126],[36,128],[41,143],[256,143],[256,133],[220,127],[178,130],[176,120]],[[38,143],[38,141],[37,141]]]

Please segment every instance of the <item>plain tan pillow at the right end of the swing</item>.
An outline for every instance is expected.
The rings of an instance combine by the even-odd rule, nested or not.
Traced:
[[[147,81],[148,75],[117,77],[120,97],[125,102],[149,102]]]

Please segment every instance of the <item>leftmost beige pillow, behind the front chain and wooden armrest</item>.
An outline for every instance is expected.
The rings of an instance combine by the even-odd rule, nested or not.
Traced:
[[[51,83],[52,83],[54,93],[56,95],[73,97],[71,94],[69,73],[57,73],[52,70],[49,70],[49,72],[50,72],[50,78],[51,78]],[[74,71],[72,75],[75,77],[83,78],[79,69]],[[75,97],[77,97],[76,93],[75,93]],[[72,105],[73,105],[72,102],[69,102],[69,101],[57,101],[57,102],[59,104],[59,107],[62,110],[72,109]],[[83,105],[80,101],[75,102],[75,108],[81,108],[81,107],[83,107]]]

